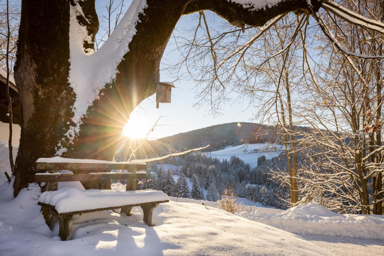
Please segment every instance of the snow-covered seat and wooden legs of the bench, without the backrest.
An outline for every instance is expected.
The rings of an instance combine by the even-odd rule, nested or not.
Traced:
[[[78,190],[63,188],[45,191],[39,198],[46,221],[53,228],[54,219],[59,221],[59,236],[62,241],[71,238],[73,215],[121,208],[129,216],[132,207],[141,206],[143,221],[152,226],[152,212],[159,203],[169,202],[167,194],[157,190]]]

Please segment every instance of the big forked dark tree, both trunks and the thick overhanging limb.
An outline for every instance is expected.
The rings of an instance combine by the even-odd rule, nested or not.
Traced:
[[[159,63],[180,16],[212,10],[236,26],[263,25],[282,13],[317,11],[323,0],[286,0],[252,10],[227,0],[147,0],[139,15],[129,52],[118,66],[111,85],[99,92],[100,99],[88,108],[81,131],[64,156],[112,160],[122,128],[131,111],[155,92]],[[74,5],[74,1],[71,2]],[[79,1],[89,34],[98,30],[94,0]],[[81,19],[81,18],[79,18]],[[22,18],[15,66],[15,79],[22,103],[22,133],[15,165],[14,193],[33,182],[33,164],[51,157],[68,131],[76,95],[68,86],[70,1],[22,1]],[[86,48],[91,45],[84,45]],[[69,122],[69,123],[68,123]],[[68,123],[68,124],[67,124]]]

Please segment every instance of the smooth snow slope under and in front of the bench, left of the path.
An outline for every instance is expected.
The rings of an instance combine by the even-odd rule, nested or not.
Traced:
[[[70,241],[59,241],[37,206],[40,188],[30,185],[12,199],[0,185],[0,255],[331,255],[304,239],[217,208],[170,201],[154,210],[154,227],[112,211],[86,213],[73,224]]]

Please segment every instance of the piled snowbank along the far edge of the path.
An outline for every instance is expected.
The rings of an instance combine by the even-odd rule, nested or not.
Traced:
[[[296,234],[384,239],[384,216],[338,214],[316,203],[302,203],[281,213],[257,209],[237,215]]]

